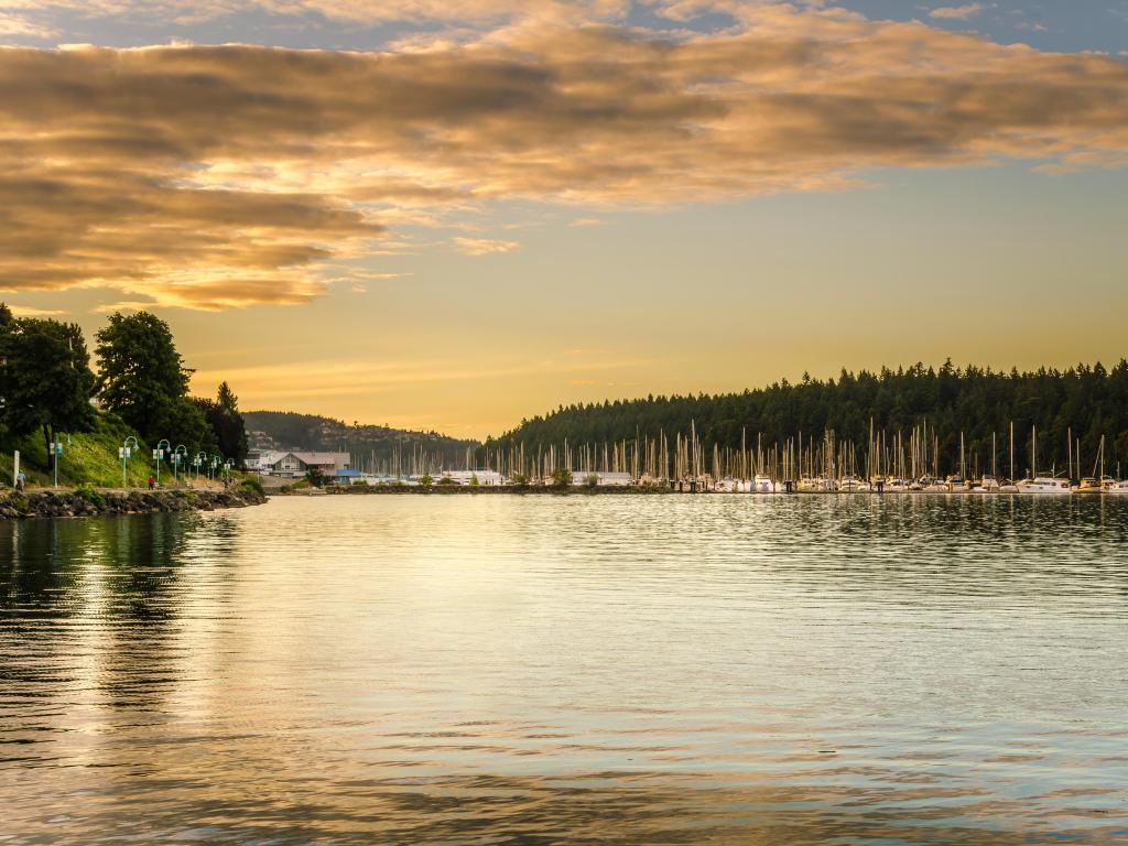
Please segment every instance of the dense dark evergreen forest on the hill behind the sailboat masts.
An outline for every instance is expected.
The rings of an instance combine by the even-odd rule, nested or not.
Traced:
[[[999,472],[1006,473],[1010,424],[1015,429],[1016,472],[1030,467],[1031,425],[1038,429],[1039,469],[1065,468],[1067,432],[1081,439],[1083,468],[1093,466],[1101,437],[1107,437],[1107,468],[1119,460],[1128,470],[1128,361],[1111,370],[1100,363],[1067,370],[997,372],[989,368],[958,369],[951,361],[938,369],[915,364],[871,373],[843,370],[837,379],[808,376],[759,390],[719,396],[659,396],[602,404],[561,406],[491,441],[491,449],[511,443],[527,448],[615,442],[636,437],[687,433],[693,422],[708,446],[739,448],[742,431],[765,443],[784,442],[797,432],[821,437],[832,430],[839,440],[862,448],[871,420],[878,431],[907,433],[927,421],[940,439],[941,466],[955,468],[962,432],[969,464],[988,468],[992,437],[997,435]]]

